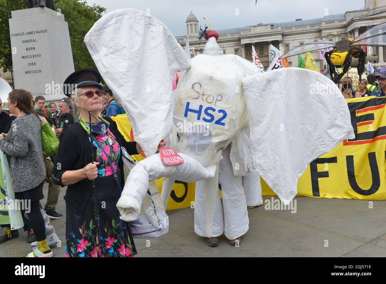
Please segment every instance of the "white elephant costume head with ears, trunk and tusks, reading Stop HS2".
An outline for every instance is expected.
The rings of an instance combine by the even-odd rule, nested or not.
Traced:
[[[161,193],[167,200],[174,179],[205,179],[206,235],[212,237],[218,162],[222,150],[247,126],[250,150],[241,147],[240,163],[245,168],[245,161],[251,160],[246,167],[255,169],[285,204],[296,195],[297,179],[308,163],[354,138],[339,88],[315,71],[256,73],[252,63],[233,54],[190,59],[163,23],[136,9],[104,15],[86,34],[85,43],[147,156],[130,172],[117,203],[126,221],[138,215],[149,180],[169,178]],[[208,44],[217,45],[213,38]],[[172,93],[172,78],[182,70]],[[320,94],[317,88],[313,93],[313,84],[327,91]],[[189,122],[201,132],[194,133]],[[166,167],[154,153],[169,134],[171,147],[190,159]]]

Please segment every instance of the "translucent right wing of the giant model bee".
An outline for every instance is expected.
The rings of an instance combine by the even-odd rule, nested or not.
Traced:
[[[356,37],[350,46],[385,46],[386,45],[386,22],[376,25],[363,34]]]

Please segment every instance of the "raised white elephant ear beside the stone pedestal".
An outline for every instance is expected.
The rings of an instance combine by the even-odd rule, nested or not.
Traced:
[[[172,131],[173,76],[190,68],[190,58],[162,22],[137,9],[104,15],[88,31],[85,43],[122,103],[135,140],[146,156],[154,154]]]

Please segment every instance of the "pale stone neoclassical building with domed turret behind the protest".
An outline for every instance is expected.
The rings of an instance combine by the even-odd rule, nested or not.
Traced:
[[[203,20],[205,21],[205,20]],[[344,14],[327,15],[324,18],[302,20],[293,22],[257,24],[246,27],[217,30],[218,45],[224,54],[237,54],[252,61],[252,45],[264,67],[269,66],[269,46],[289,49],[300,44],[316,42],[318,39],[339,41],[340,39],[355,38],[374,25],[386,22],[386,0],[365,0],[361,10],[348,11]],[[206,23],[206,22],[205,22]],[[204,27],[205,23],[201,25]],[[186,19],[187,35],[176,37],[181,46],[185,48],[186,38],[189,37],[191,56],[202,54],[205,39],[198,39],[199,25],[197,17],[190,12]],[[369,51],[371,54],[369,54]],[[377,63],[384,65],[386,50],[383,47],[374,47],[367,50],[368,56],[378,56]],[[327,63],[319,58],[319,52],[312,52],[320,70],[327,70]],[[298,56],[288,58],[289,66],[298,65]],[[375,64],[377,65],[377,64]]]

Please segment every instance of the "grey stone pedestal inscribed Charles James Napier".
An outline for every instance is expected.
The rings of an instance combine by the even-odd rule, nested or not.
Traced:
[[[9,30],[15,89],[43,95],[47,102],[63,98],[61,86],[74,72],[64,15],[45,7],[12,11]]]

